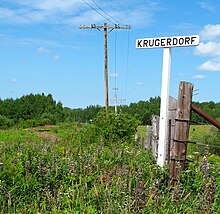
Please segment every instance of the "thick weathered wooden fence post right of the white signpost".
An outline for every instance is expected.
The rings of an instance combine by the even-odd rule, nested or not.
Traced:
[[[193,86],[189,82],[180,82],[178,95],[178,110],[175,120],[175,130],[170,163],[171,185],[177,183],[178,177],[185,166],[187,141],[191,119]]]

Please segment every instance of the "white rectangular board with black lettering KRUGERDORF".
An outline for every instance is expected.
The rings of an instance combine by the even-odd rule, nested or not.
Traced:
[[[171,48],[199,45],[199,35],[144,38],[136,40],[136,48]]]

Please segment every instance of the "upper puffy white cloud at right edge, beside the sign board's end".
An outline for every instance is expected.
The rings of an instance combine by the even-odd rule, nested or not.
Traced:
[[[199,33],[202,40],[214,40],[220,38],[220,24],[205,25]]]

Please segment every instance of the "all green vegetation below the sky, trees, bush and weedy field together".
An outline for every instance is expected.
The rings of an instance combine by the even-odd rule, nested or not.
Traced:
[[[44,94],[0,100],[0,213],[220,213],[219,130],[191,126],[190,141],[200,144],[188,145],[193,162],[174,188],[169,166],[134,142],[159,102],[107,114],[63,108]]]

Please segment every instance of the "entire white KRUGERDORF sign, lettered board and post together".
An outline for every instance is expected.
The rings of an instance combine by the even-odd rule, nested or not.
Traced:
[[[167,125],[168,125],[168,104],[170,93],[170,65],[171,65],[171,47],[186,47],[199,45],[199,36],[176,36],[144,38],[136,40],[136,48],[164,48],[163,50],[163,68],[162,68],[162,86],[161,86],[161,104],[160,104],[160,125],[159,125],[159,144],[157,164],[164,166],[166,160],[167,146]]]

